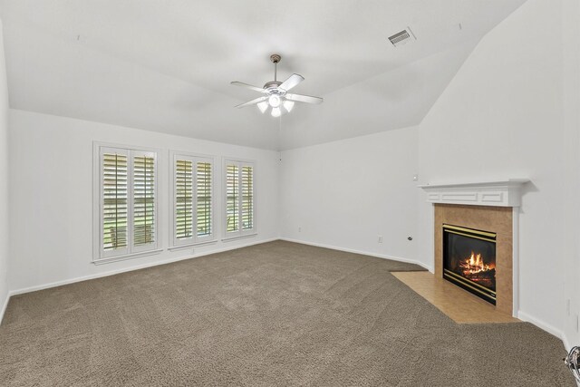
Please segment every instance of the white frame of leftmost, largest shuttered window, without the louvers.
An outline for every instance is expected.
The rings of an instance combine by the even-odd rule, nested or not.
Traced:
[[[127,247],[122,249],[113,249],[111,251],[105,251],[103,247],[103,222],[102,217],[102,202],[103,202],[103,169],[102,169],[102,155],[106,152],[114,152],[117,154],[124,154],[127,157]],[[153,254],[158,254],[162,250],[161,230],[160,230],[160,200],[161,200],[161,189],[160,189],[160,150],[134,147],[122,144],[108,143],[108,142],[93,142],[93,193],[92,193],[92,207],[93,207],[93,240],[92,240],[92,263],[95,265],[100,265],[109,262],[116,262],[124,259],[131,259],[133,257],[139,256],[150,256]],[[134,157],[136,156],[152,156],[154,159],[154,176],[153,176],[153,187],[154,187],[154,241],[147,245],[133,246],[134,245]]]

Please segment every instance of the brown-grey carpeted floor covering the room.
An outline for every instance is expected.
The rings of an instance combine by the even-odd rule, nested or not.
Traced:
[[[531,324],[455,324],[392,270],[276,241],[26,295],[2,385],[574,386]]]

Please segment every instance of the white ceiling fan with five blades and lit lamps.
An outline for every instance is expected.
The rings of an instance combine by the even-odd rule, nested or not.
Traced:
[[[285,80],[285,82],[280,82],[277,80],[277,65],[282,57],[277,53],[270,55],[270,61],[274,63],[274,81],[266,82],[263,88],[252,86],[244,82],[231,82],[236,86],[246,87],[248,89],[254,90],[255,92],[261,92],[264,95],[256,98],[255,100],[248,101],[237,105],[237,108],[243,108],[249,105],[257,105],[258,109],[265,113],[269,108],[272,108],[270,114],[273,117],[280,117],[282,113],[292,111],[295,102],[306,102],[306,103],[322,103],[324,100],[320,97],[311,97],[310,95],[302,94],[291,94],[288,91],[295,87],[298,83],[304,81],[304,77],[298,74],[292,74]]]

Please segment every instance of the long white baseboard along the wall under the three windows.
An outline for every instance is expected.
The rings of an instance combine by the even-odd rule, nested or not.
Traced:
[[[90,276],[78,276],[78,277],[75,277],[75,278],[64,279],[62,281],[51,282],[49,284],[43,284],[43,285],[35,285],[35,286],[30,286],[30,287],[24,287],[22,289],[16,289],[16,290],[10,291],[8,293],[8,297],[10,297],[12,295],[24,295],[24,293],[36,292],[38,290],[49,289],[51,287],[56,287],[56,286],[74,284],[76,282],[88,281],[90,279],[102,278],[104,276],[114,276],[114,275],[121,274],[121,273],[127,273],[127,272],[134,271],[134,270],[144,269],[144,268],[147,268],[147,267],[167,265],[167,264],[170,264],[170,263],[173,263],[173,262],[179,262],[179,261],[183,261],[183,260],[186,260],[186,259],[197,258],[198,256],[209,256],[211,254],[223,253],[223,252],[229,251],[229,250],[236,250],[237,248],[250,247],[250,246],[259,245],[259,244],[262,244],[262,243],[273,242],[275,240],[278,240],[278,238],[277,237],[272,237],[272,238],[268,238],[268,239],[264,239],[264,240],[248,242],[248,243],[245,243],[243,245],[237,245],[237,246],[230,246],[230,247],[218,248],[216,250],[204,251],[204,252],[201,252],[201,253],[198,253],[198,254],[192,254],[192,255],[189,255],[189,256],[179,256],[179,257],[175,257],[175,258],[169,258],[169,259],[160,260],[160,261],[157,261],[157,262],[151,262],[151,263],[148,263],[148,264],[136,265],[136,266],[131,266],[131,267],[124,267],[122,269],[111,270],[111,271],[108,271],[108,272],[98,273],[98,274],[94,274],[94,275],[90,275]],[[8,304],[8,302],[6,300],[6,305],[7,304]],[[0,322],[2,322],[1,319],[0,319]]]

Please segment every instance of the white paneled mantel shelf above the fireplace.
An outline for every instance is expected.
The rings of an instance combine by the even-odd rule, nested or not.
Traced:
[[[419,188],[427,192],[427,201],[430,203],[519,207],[521,187],[528,181],[529,179],[507,179],[474,183],[427,184]]]

